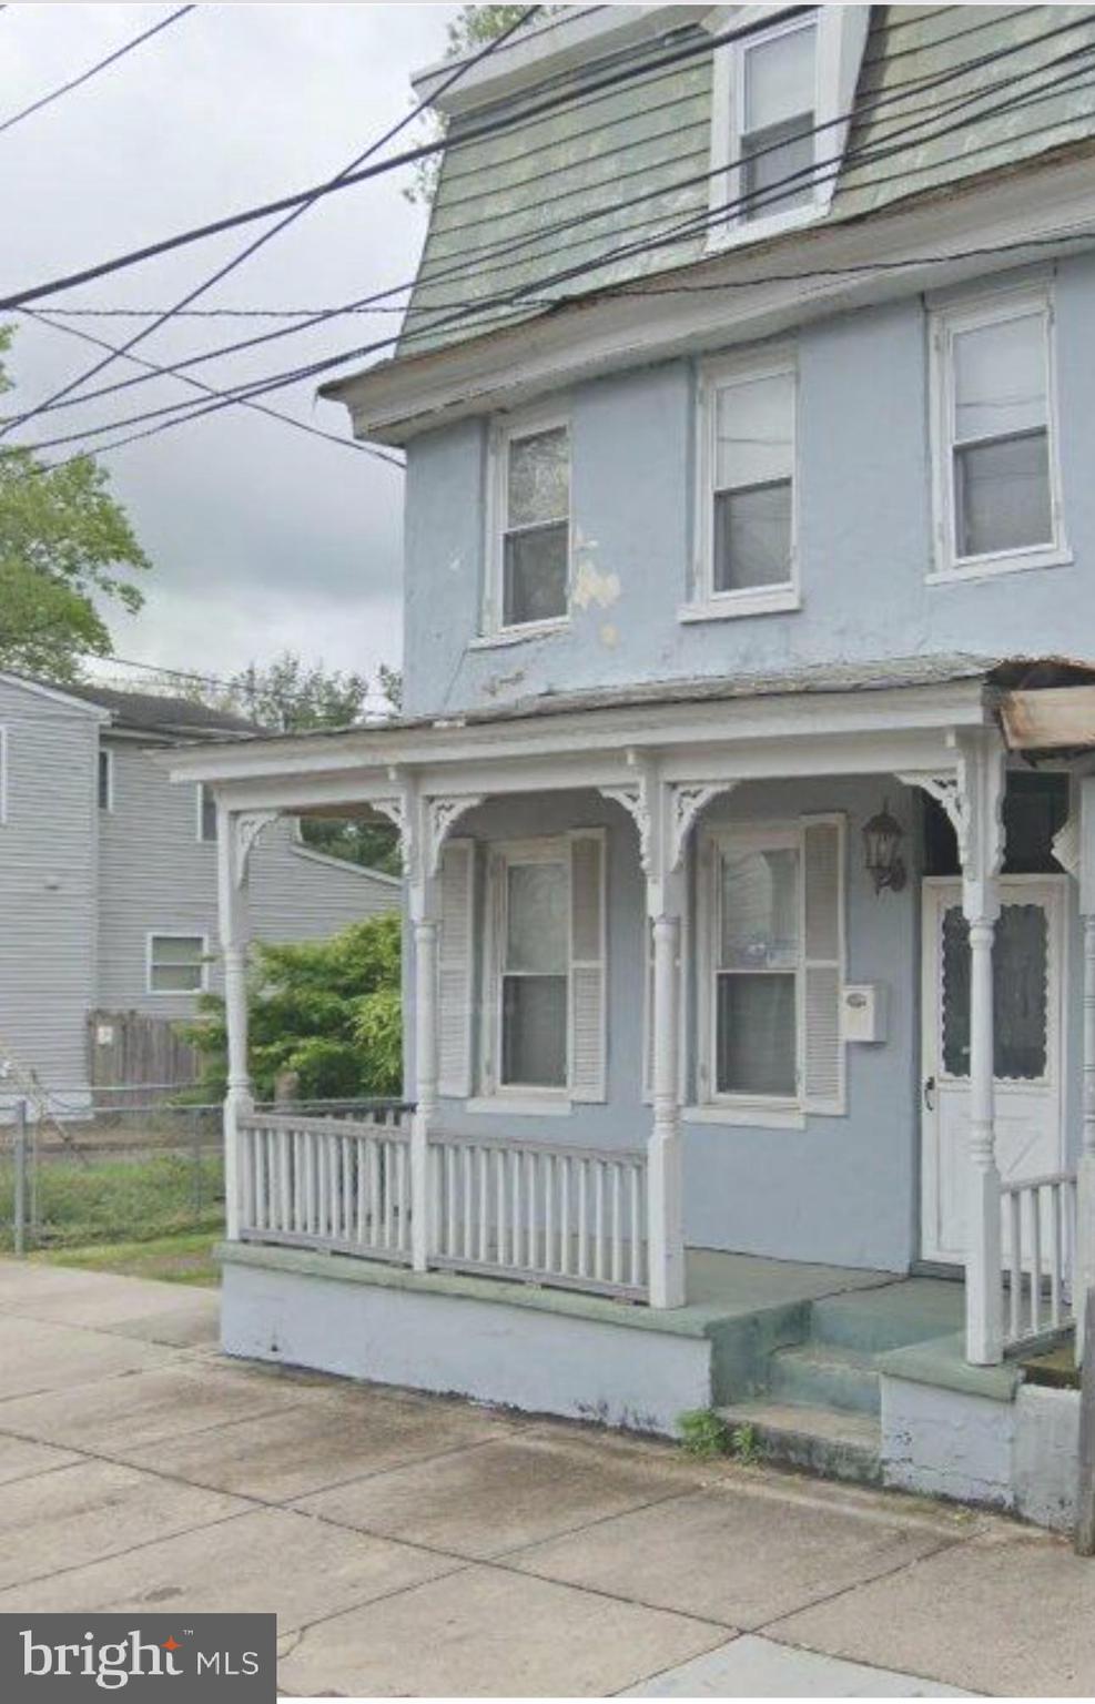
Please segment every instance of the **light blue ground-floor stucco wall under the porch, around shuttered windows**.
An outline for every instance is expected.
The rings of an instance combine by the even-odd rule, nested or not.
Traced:
[[[715,801],[703,818],[782,821],[811,811],[846,813],[848,976],[887,983],[889,1036],[880,1045],[848,1046],[843,1118],[811,1116],[804,1130],[685,1125],[685,1232],[693,1246],[892,1271],[906,1269],[914,1256],[916,883],[901,895],[875,896],[860,857],[863,820],[879,809],[884,792],[911,842],[911,801],[882,779],[746,784]],[[485,843],[591,825],[608,828],[608,1101],[576,1106],[570,1116],[536,1118],[509,1109],[467,1111],[465,1102],[446,1099],[441,1123],[450,1130],[618,1147],[642,1145],[649,1137],[652,1113],[642,1101],[644,878],[630,818],[591,792],[523,796],[484,804],[462,820],[460,832]],[[691,1055],[693,1022],[688,1036]],[[691,1080],[691,1070],[688,1075]]]

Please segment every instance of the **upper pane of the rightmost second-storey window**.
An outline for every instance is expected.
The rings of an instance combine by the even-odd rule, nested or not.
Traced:
[[[959,440],[1005,438],[1046,426],[1041,314],[955,334],[954,404]]]

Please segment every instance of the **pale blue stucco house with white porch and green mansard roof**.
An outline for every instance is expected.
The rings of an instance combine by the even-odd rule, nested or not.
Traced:
[[[228,1348],[1063,1518],[1093,56],[1092,7],[588,7],[416,82],[404,337],[325,390],[407,453],[405,712],[174,770],[232,825]],[[247,855],[317,803],[404,837],[398,1131],[250,1106]]]

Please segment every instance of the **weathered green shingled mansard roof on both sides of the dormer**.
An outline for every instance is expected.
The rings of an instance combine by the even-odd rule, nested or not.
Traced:
[[[574,10],[572,20],[552,22],[555,39],[577,32],[582,15],[605,9]],[[625,14],[661,14],[654,20],[661,27],[623,48],[606,29],[586,44],[577,66],[564,65],[562,72],[552,72],[553,36],[545,27],[521,87],[489,101],[485,85],[477,104],[462,101],[450,118],[453,141],[545,97],[574,94],[519,130],[446,152],[398,354],[513,324],[513,305],[489,308],[472,322],[443,320],[458,305],[525,290],[572,268],[582,271],[538,290],[526,317],[703,261],[710,254],[703,227],[659,247],[635,247],[683,222],[702,222],[708,211],[714,56],[697,51],[657,66],[690,44],[702,48],[712,31],[748,22],[753,10],[613,7],[615,24]],[[1095,82],[1086,75],[1090,61],[1078,58],[1095,46],[1093,7],[840,10],[869,12],[870,27],[865,48],[860,43],[862,60],[857,49],[855,95],[845,109],[851,111],[846,148],[836,126],[834,152],[819,147],[819,164],[843,153],[840,165],[828,167],[834,182],[821,223],[857,220],[1095,140]],[[516,53],[519,41],[499,49],[499,61]],[[649,75],[599,89],[613,68],[647,63]],[[535,75],[538,65],[542,73]],[[419,90],[429,90],[436,77],[434,70],[421,78]],[[501,72],[496,87],[506,89]],[[628,247],[630,254],[620,254]]]

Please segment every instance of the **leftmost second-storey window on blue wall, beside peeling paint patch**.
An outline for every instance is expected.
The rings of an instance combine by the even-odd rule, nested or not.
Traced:
[[[501,625],[559,620],[570,584],[570,431],[509,431],[499,455]]]

